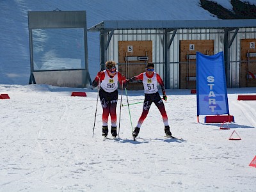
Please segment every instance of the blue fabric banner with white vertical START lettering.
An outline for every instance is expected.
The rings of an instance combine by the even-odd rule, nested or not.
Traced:
[[[197,116],[229,115],[223,52],[196,52],[196,100]]]

